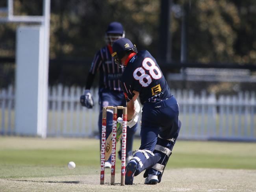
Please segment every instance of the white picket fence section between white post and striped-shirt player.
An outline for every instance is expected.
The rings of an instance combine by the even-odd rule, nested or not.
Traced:
[[[80,104],[81,87],[51,87],[48,95],[47,136],[92,137],[98,132],[98,90],[93,89],[93,109]]]

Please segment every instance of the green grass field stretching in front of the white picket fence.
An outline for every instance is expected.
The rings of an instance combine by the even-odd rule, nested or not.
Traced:
[[[139,147],[139,142],[135,140],[134,149]],[[68,170],[69,161],[76,163],[74,170]],[[61,181],[62,183],[59,183],[61,185],[65,182],[74,182],[73,178],[80,178],[80,175],[83,175],[83,178],[95,175],[96,179],[92,183],[99,186],[97,184],[100,178],[99,164],[99,141],[95,139],[0,137],[0,179],[2,179],[0,188],[1,186],[6,188],[0,191],[15,191],[9,187],[9,184],[7,185],[9,181],[39,179],[43,182],[45,178],[49,183],[49,178],[52,178],[54,182]],[[120,173],[120,167],[118,160],[117,175]],[[187,172],[191,168],[193,170],[201,170],[201,168],[204,168],[203,170],[208,170],[208,168],[227,169],[227,171],[245,170],[245,172],[248,170],[249,173],[256,175],[256,143],[178,140],[165,174],[167,175],[169,170],[170,172],[175,170]],[[110,177],[109,170],[106,170],[106,175],[105,177]],[[27,190],[27,187],[31,190],[29,188],[31,186],[27,185],[20,190]]]

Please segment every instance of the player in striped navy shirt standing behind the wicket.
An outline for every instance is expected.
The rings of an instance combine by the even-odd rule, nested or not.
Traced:
[[[91,69],[87,75],[84,94],[80,97],[80,103],[82,106],[91,109],[94,106],[93,96],[90,89],[95,79],[96,73],[99,72],[99,117],[98,117],[98,129],[101,136],[102,130],[102,108],[111,106],[126,106],[126,100],[120,84],[120,78],[122,76],[122,68],[115,65],[112,54],[112,44],[115,40],[124,37],[124,29],[121,23],[111,22],[108,25],[105,35],[106,45],[98,50],[95,54]],[[121,114],[118,114],[121,116]],[[106,138],[112,132],[113,125],[113,110],[107,110],[107,126],[106,126]],[[133,124],[133,127],[127,129],[126,138],[126,159],[132,157],[132,144],[134,139],[134,133],[137,130],[137,122]],[[121,150],[119,151],[119,159],[121,159]],[[111,167],[111,157],[106,159],[105,167]]]

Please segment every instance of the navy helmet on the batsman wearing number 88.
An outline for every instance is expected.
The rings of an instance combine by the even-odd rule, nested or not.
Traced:
[[[128,51],[133,51],[137,53],[136,46],[132,44],[132,42],[127,38],[121,38],[115,41],[113,43],[112,49],[113,49],[112,57],[114,57],[115,63],[119,65],[121,64],[120,62],[121,59],[124,57],[124,55]]]

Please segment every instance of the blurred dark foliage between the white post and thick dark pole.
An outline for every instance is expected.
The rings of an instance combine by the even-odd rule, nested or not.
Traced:
[[[69,1],[52,6],[57,8],[52,8],[51,15],[52,58],[62,55],[92,58],[105,44],[105,31],[112,21],[121,22],[126,37],[142,46],[150,41],[147,37],[151,38],[151,34],[157,35],[154,33],[158,27],[157,1]]]

